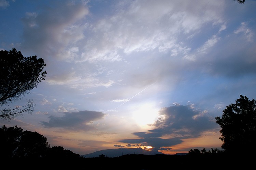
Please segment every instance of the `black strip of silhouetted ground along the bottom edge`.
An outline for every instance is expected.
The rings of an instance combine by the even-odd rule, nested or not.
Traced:
[[[187,155],[137,155],[128,154],[119,157],[44,157],[37,159],[13,158],[9,168],[40,169],[132,169],[132,170],[161,170],[161,169],[226,169],[254,166],[255,155],[218,154],[187,154]]]

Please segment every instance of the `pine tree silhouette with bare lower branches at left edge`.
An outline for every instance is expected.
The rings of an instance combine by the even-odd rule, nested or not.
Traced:
[[[28,100],[24,107],[11,108],[9,103],[18,101],[44,80],[44,66],[46,64],[42,58],[23,57],[15,48],[0,51],[0,118],[11,120],[23,112],[32,113],[33,100]]]

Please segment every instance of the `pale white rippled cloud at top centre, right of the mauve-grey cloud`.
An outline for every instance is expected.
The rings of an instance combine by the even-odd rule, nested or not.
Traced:
[[[155,49],[185,50],[186,47],[178,45],[179,36],[186,37],[208,22],[221,20],[214,9],[221,11],[222,2],[199,3],[132,1],[117,4],[119,12],[87,29],[92,38],[84,46],[84,61],[120,61],[133,52]]]

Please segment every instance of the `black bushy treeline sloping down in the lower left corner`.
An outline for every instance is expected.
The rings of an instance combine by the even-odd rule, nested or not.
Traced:
[[[0,159],[80,158],[62,146],[50,147],[43,135],[17,126],[0,128],[0,151]]]

